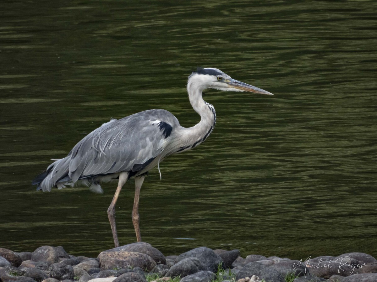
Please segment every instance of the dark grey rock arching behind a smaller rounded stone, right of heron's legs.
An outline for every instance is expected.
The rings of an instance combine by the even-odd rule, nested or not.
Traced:
[[[175,259],[175,263],[185,258],[197,258],[199,261],[207,265],[207,269],[212,272],[217,271],[218,266],[223,264],[222,258],[207,247],[199,247],[188,252],[182,253]]]

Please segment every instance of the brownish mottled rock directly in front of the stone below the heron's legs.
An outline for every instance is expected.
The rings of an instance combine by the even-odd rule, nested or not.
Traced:
[[[100,259],[101,270],[138,266],[147,271],[151,271],[153,267],[156,266],[156,262],[149,255],[136,252],[102,252],[98,255],[98,258]]]

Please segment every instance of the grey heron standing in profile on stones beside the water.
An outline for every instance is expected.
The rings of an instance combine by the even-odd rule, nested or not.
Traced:
[[[198,124],[182,127],[172,113],[162,109],[112,119],[86,135],[65,158],[53,159],[55,162],[35,177],[32,184],[43,191],[51,191],[52,187],[62,189],[66,185],[86,185],[95,193],[103,193],[101,182],[118,181],[107,209],[114,244],[118,247],[115,205],[124,183],[134,177],[136,189],[132,223],[136,239],[141,242],[138,209],[144,177],[167,156],[193,149],[211,134],[216,123],[216,112],[202,98],[202,91],[207,88],[273,95],[232,79],[217,68],[198,68],[187,82],[190,103],[201,117]]]

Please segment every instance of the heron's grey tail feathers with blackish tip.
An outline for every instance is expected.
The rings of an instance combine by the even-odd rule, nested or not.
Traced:
[[[37,190],[51,191],[60,179],[67,177],[69,172],[69,157],[58,159],[53,162],[41,174],[37,175],[31,182],[37,185]],[[60,186],[61,187],[61,186]]]

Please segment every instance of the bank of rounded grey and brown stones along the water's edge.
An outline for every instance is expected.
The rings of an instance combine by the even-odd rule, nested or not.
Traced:
[[[228,279],[228,282],[234,281],[234,275],[238,282],[263,279],[285,282],[286,274],[294,271],[296,276],[301,275],[294,282],[377,282],[377,260],[361,252],[319,256],[303,262],[277,256],[266,258],[252,254],[242,258],[239,255],[239,250],[198,247],[181,255],[164,256],[148,243],[104,250],[98,258],[69,255],[62,246],[41,246],[34,252],[20,253],[0,248],[0,281],[146,282],[150,272],[165,276],[156,282],[177,276],[180,282],[210,282],[216,279],[220,265],[227,268],[228,274],[222,279]],[[345,263],[341,271],[339,262]]]

